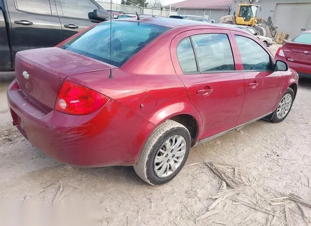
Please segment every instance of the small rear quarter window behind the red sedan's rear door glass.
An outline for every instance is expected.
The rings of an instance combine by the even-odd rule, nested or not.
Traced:
[[[198,72],[190,37],[183,39],[178,44],[177,57],[184,74]]]

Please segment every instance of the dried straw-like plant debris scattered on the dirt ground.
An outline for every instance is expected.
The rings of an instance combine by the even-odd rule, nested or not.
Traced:
[[[202,162],[190,164],[189,167],[203,164]],[[311,219],[308,217],[305,208],[311,208],[311,202],[299,196],[298,194],[284,195],[276,191],[269,191],[259,183],[262,176],[255,177],[243,173],[241,169],[227,164],[216,164],[211,161],[206,162],[206,165],[216,176],[222,180],[219,191],[206,196],[212,202],[206,207],[204,214],[195,218],[195,222],[206,220],[209,224],[226,225],[224,219],[216,220],[217,214],[225,212],[229,205],[243,205],[252,209],[248,214],[235,225],[248,225],[258,223],[252,218],[256,216],[256,212],[267,214],[264,225],[279,226],[279,225],[295,225],[295,217],[302,217],[306,225],[311,225]],[[201,169],[206,170],[200,166]],[[301,179],[299,180],[299,182]],[[299,182],[297,184],[299,184]],[[294,186],[296,183],[294,184]],[[204,199],[204,198],[202,198]],[[224,207],[225,203],[225,207]],[[296,205],[295,205],[296,204]],[[224,207],[224,208],[223,208]],[[292,209],[294,208],[294,209]],[[301,214],[300,214],[301,212]],[[218,215],[219,216],[219,215]],[[231,222],[232,223],[232,222]],[[229,224],[230,225],[230,224]]]

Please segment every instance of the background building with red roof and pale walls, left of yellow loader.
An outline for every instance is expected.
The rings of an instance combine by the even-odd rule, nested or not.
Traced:
[[[172,4],[172,10],[179,15],[204,16],[214,23],[219,23],[220,18],[228,15],[232,0],[185,0]],[[170,5],[164,6],[169,10]]]

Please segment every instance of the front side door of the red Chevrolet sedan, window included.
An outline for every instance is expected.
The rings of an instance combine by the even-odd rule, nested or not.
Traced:
[[[243,66],[245,100],[238,124],[258,119],[274,111],[280,95],[282,73],[274,70],[275,59],[256,37],[234,34]]]

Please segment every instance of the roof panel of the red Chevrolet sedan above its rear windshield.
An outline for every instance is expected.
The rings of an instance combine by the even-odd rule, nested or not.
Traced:
[[[122,18],[119,21],[138,21],[137,18]],[[176,28],[183,25],[202,25],[205,28],[219,28],[220,26],[217,26],[215,24],[208,24],[201,21],[194,21],[194,20],[186,20],[186,19],[175,19],[175,18],[166,18],[166,17],[142,17],[139,20],[143,23],[150,23],[155,24],[163,27],[168,28]]]

